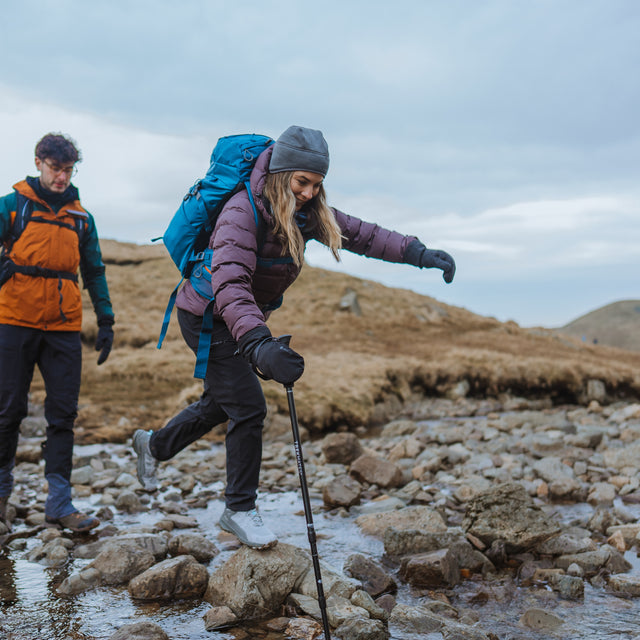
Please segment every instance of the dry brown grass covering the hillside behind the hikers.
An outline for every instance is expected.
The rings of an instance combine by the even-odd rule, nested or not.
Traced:
[[[86,343],[79,440],[123,440],[135,428],[160,427],[198,394],[192,353],[175,317],[161,350],[156,341],[177,270],[162,246],[102,242],[116,313],[114,350],[96,366],[95,318],[86,301]],[[455,286],[455,284],[453,285]],[[362,316],[341,310],[349,289]],[[174,314],[175,315],[175,314]],[[591,378],[612,396],[640,396],[640,353],[501,323],[433,298],[305,267],[269,322],[291,333],[305,357],[296,383],[300,421],[312,430],[383,420],[414,393],[442,394],[466,379],[478,396],[510,392],[576,400]],[[34,384],[34,399],[42,385]],[[282,387],[265,383],[275,411]]]

